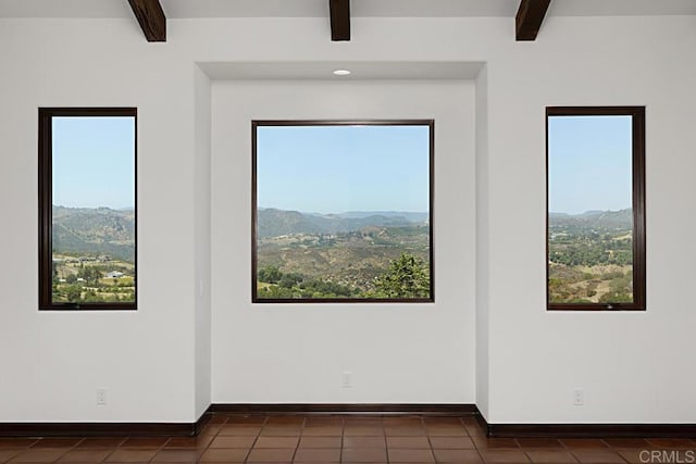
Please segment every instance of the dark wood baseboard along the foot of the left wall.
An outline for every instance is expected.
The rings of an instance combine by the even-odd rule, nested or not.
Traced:
[[[0,437],[195,437],[210,416],[209,407],[195,423],[0,422]]]

